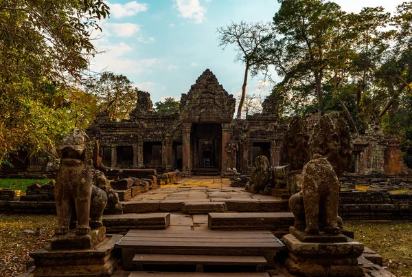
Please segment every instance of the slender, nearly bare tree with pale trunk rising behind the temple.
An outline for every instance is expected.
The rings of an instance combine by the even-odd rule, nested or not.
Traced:
[[[231,22],[226,27],[219,27],[217,32],[219,34],[219,46],[225,49],[227,45],[236,45],[236,60],[244,63],[244,76],[242,85],[242,96],[238,106],[236,118],[242,117],[242,108],[244,99],[246,98],[247,78],[249,76],[249,69],[258,67],[263,62],[260,52],[265,44],[268,44],[274,37],[271,32],[271,25],[268,23],[240,23]]]

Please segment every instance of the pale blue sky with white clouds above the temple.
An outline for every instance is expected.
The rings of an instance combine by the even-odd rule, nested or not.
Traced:
[[[336,0],[346,12],[365,6],[396,10],[400,0]],[[110,0],[111,16],[93,32],[98,54],[93,71],[123,74],[152,102],[187,93],[205,69],[214,72],[233,96],[242,89],[244,65],[236,62],[233,47],[218,46],[216,28],[231,21],[271,21],[276,0]],[[271,85],[262,77],[249,78],[247,92],[267,94]],[[279,78],[275,78],[279,80]]]

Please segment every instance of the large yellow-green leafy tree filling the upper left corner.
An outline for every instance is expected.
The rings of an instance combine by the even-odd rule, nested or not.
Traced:
[[[0,1],[0,164],[26,148],[47,151],[75,124],[65,106],[82,79],[103,0]]]

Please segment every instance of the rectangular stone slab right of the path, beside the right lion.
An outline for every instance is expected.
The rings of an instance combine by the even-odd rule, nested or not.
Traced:
[[[295,218],[292,212],[209,213],[210,230],[271,230],[288,232]]]

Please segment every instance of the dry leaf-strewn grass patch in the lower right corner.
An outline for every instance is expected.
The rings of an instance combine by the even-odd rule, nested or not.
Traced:
[[[356,241],[380,254],[392,274],[412,276],[412,222],[347,221],[345,228],[355,232]]]

